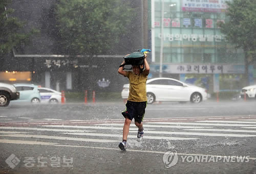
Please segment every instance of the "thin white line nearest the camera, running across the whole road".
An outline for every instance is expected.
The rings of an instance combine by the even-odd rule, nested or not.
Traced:
[[[112,151],[120,151],[119,148],[109,148],[109,147],[95,147],[95,146],[78,146],[78,145],[62,145],[58,143],[48,143],[48,142],[39,142],[39,141],[23,141],[23,140],[6,140],[0,139],[0,143],[13,143],[13,144],[39,144],[39,145],[52,145],[52,146],[59,146],[59,147],[80,147],[80,148],[93,148],[98,150],[112,150]],[[136,152],[136,153],[153,153],[153,154],[165,154],[166,152],[160,151],[142,151],[142,150],[127,150],[129,152]],[[221,155],[207,155],[207,154],[184,154],[184,153],[177,153],[177,155],[183,156],[213,156],[213,157],[221,157],[222,159],[224,156]],[[249,160],[256,160],[256,157],[248,157]]]

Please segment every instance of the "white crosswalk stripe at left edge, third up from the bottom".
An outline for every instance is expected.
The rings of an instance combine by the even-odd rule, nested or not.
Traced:
[[[0,129],[52,131],[52,132],[95,132],[95,131],[89,131],[89,130],[45,129],[45,128],[25,128],[25,127],[0,127]]]

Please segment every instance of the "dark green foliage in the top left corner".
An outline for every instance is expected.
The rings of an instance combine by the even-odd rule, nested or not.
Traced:
[[[0,55],[10,53],[13,47],[19,46],[21,42],[28,42],[31,34],[38,32],[33,30],[30,33],[21,33],[25,23],[16,17],[10,17],[9,14],[14,10],[5,8],[8,3],[8,0],[0,1]]]

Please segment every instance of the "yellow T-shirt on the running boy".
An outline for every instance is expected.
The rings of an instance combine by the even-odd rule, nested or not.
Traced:
[[[137,75],[132,71],[127,71],[126,77],[130,82],[129,96],[127,100],[132,102],[146,102],[147,75],[145,74],[145,71],[142,71]]]

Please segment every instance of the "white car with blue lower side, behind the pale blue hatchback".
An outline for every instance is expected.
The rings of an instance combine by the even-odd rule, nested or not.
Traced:
[[[41,95],[41,102],[61,103],[61,92],[43,87],[38,87],[38,90]],[[64,100],[66,100],[66,98]]]

